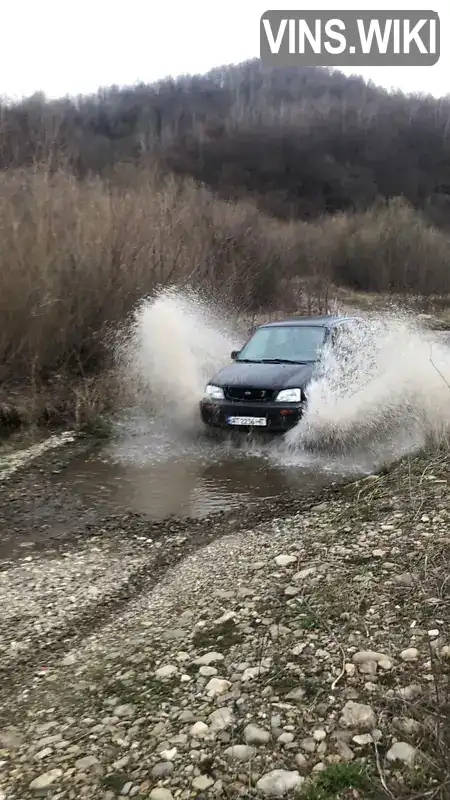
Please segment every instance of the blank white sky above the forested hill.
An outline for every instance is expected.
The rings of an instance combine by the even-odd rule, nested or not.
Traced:
[[[3,0],[0,95],[87,94],[238,63],[259,56],[261,14],[305,7],[437,11],[442,55],[434,67],[357,71],[388,88],[450,93],[450,0]]]

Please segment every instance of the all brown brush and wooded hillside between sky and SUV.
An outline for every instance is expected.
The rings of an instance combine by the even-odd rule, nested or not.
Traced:
[[[117,330],[157,287],[254,317],[445,315],[448,103],[296,76],[250,62],[0,107],[0,427],[96,424],[120,402]]]

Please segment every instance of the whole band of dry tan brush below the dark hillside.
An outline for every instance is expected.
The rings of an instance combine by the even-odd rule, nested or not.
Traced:
[[[112,368],[117,330],[158,286],[201,287],[247,314],[314,312],[330,307],[336,276],[364,285],[385,265],[384,281],[401,274],[442,294],[450,266],[445,236],[402,204],[281,223],[151,166],[108,182],[45,166],[3,172],[0,237],[3,426],[111,408],[117,386],[97,378]]]

